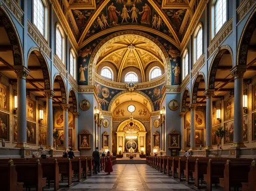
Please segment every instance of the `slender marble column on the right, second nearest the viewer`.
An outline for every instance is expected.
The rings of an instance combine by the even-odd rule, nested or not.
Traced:
[[[205,149],[212,149],[211,142],[211,126],[212,126],[212,96],[214,96],[214,89],[206,89],[204,94],[206,96],[206,147]]]

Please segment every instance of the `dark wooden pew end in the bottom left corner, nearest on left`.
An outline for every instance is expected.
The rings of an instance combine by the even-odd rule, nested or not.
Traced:
[[[0,164],[1,190],[22,191],[23,182],[17,181],[17,172],[12,160],[8,164]]]

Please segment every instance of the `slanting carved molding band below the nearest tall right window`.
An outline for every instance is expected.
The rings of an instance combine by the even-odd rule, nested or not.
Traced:
[[[208,57],[212,53],[215,52],[216,49],[220,46],[220,44],[223,42],[223,40],[231,33],[232,31],[232,21],[233,18],[231,17],[226,24],[222,27],[222,29],[217,33],[217,35],[212,39],[210,42],[210,45],[208,46]]]

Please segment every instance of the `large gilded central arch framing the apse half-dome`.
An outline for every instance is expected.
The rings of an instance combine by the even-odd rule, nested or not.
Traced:
[[[97,61],[100,57],[101,51],[100,49],[104,49],[104,47],[108,46],[109,43],[113,42],[115,39],[120,39],[120,38],[126,38],[126,35],[133,35],[134,38],[144,38],[144,40],[153,43],[158,47],[160,57],[163,60],[164,63],[164,70],[165,70],[165,83],[166,85],[171,84],[171,78],[172,78],[172,71],[170,69],[170,59],[169,56],[164,49],[163,45],[153,38],[152,36],[140,32],[140,31],[122,31],[122,32],[117,32],[114,33],[108,37],[106,37],[104,40],[102,40],[95,48],[93,51],[90,61],[89,61],[89,66],[88,66],[88,85],[93,85],[94,84],[94,73],[95,73],[95,66],[97,64]]]

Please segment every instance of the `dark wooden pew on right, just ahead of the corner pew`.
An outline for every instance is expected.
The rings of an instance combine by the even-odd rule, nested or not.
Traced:
[[[223,187],[225,191],[229,191],[231,187],[242,187],[241,182],[248,182],[250,164],[251,161],[227,160],[224,168],[224,176],[220,178],[220,186]]]

